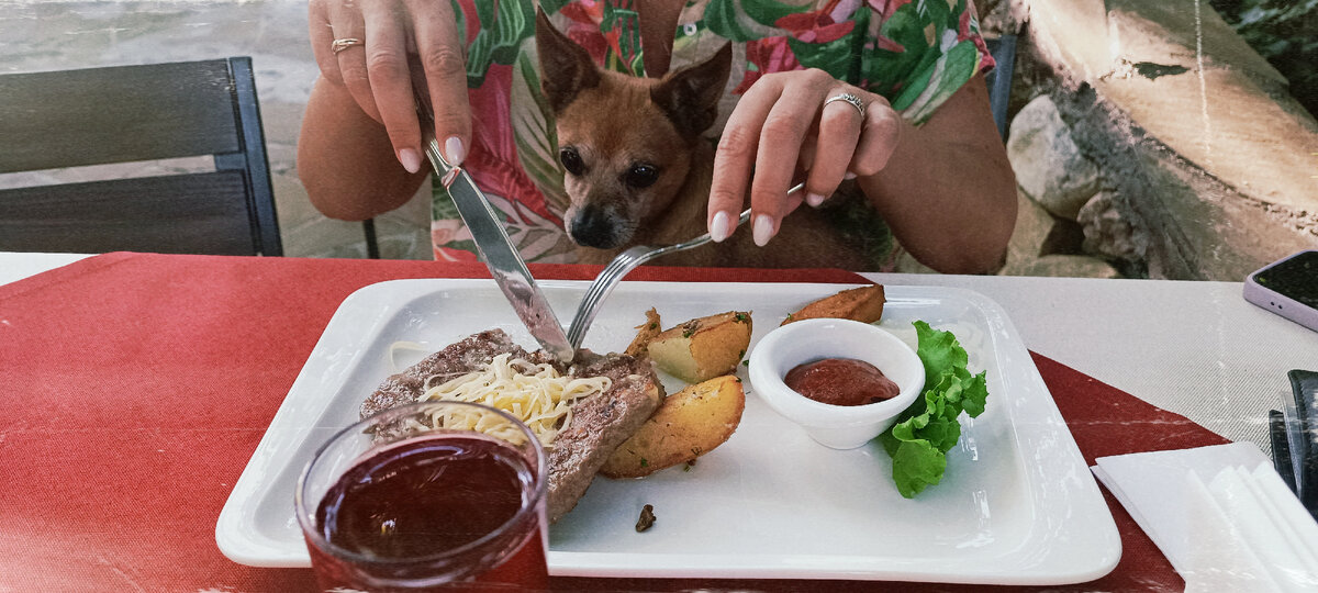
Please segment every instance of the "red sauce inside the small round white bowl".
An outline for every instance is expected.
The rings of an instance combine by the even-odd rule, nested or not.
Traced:
[[[833,406],[865,406],[891,399],[902,387],[874,365],[854,358],[807,362],[783,377],[793,391]]]

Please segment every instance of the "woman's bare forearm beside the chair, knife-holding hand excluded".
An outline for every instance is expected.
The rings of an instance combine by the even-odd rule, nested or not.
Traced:
[[[385,127],[347,88],[318,78],[302,119],[298,177],[326,216],[365,220],[405,204],[426,173],[407,173]]]

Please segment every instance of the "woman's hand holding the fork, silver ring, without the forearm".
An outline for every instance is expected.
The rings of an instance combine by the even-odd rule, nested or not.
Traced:
[[[842,94],[859,98],[863,115],[845,100],[829,101]],[[767,244],[803,200],[818,206],[844,178],[879,173],[903,125],[887,99],[822,70],[764,75],[724,127],[709,191],[710,235],[714,241],[731,235],[749,182],[751,231],[757,245]],[[805,190],[788,196],[800,170],[807,171]]]

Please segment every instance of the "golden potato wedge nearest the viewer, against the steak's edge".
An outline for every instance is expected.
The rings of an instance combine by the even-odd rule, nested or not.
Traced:
[[[641,430],[614,449],[600,473],[635,478],[695,460],[733,435],[745,409],[746,394],[734,376],[689,385],[668,395]]]

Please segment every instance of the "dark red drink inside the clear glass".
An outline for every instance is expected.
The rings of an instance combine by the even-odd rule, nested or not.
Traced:
[[[386,448],[345,472],[316,509],[330,543],[380,561],[345,559],[308,546],[320,586],[391,590],[377,579],[424,584],[420,590],[548,588],[542,513],[529,513],[493,540],[436,560],[496,532],[522,509],[535,468],[488,439],[438,436]],[[505,560],[492,557],[502,555]],[[485,585],[498,584],[498,585]],[[409,588],[407,590],[418,590]]]

